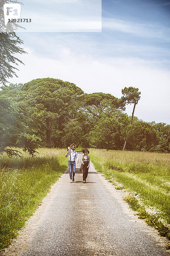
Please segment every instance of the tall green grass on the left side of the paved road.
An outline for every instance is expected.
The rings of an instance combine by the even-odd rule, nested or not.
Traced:
[[[63,149],[0,159],[0,248],[6,247],[67,167]]]

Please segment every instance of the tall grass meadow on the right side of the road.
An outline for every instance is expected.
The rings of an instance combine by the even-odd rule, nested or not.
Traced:
[[[91,160],[170,224],[170,154],[91,149]]]

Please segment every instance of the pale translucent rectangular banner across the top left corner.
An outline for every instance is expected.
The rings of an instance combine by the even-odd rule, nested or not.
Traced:
[[[20,2],[21,12],[18,8],[14,9],[12,3],[8,3],[4,8],[7,27],[16,23],[25,28],[18,27],[17,32],[102,31],[102,0],[21,0]],[[13,3],[13,5],[19,4]],[[17,14],[20,14],[20,17]]]

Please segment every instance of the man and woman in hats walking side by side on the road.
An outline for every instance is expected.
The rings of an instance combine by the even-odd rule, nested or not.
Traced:
[[[73,143],[70,145],[70,148],[68,148],[67,154],[65,157],[68,157],[68,167],[69,167],[69,175],[70,175],[70,182],[74,182],[74,175],[75,175],[75,169],[76,169],[76,160],[77,163],[79,163],[79,157],[77,152],[75,151],[76,145]],[[88,149],[82,151],[82,164],[83,164],[83,183],[86,182],[86,178],[88,176],[88,169],[90,166],[90,156]]]

